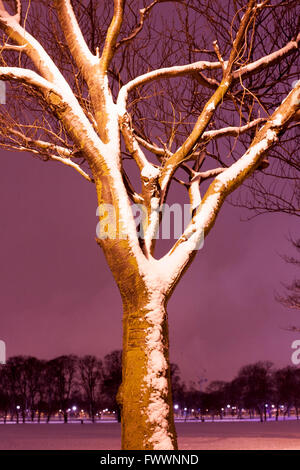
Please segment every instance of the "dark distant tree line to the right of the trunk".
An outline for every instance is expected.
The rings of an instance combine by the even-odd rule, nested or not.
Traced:
[[[243,418],[259,416],[267,421],[268,416],[287,416],[291,410],[299,418],[300,409],[300,368],[287,366],[275,369],[271,362],[257,362],[242,367],[230,382],[213,381],[205,391],[194,386],[174,390],[175,403],[180,409],[193,409],[199,418],[205,415],[228,414]]]

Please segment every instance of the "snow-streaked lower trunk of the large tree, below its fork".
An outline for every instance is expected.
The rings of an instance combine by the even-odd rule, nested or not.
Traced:
[[[143,296],[142,296],[143,297]],[[164,299],[124,300],[122,449],[177,449]],[[123,296],[124,298],[124,296]]]

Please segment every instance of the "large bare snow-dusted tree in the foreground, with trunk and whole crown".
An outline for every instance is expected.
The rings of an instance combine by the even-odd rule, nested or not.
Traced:
[[[124,305],[123,449],[177,448],[166,305],[223,202],[249,177],[256,201],[273,200],[273,177],[295,187],[297,3],[0,1],[2,147],[95,185],[97,241]],[[191,217],[156,259],[171,183]]]

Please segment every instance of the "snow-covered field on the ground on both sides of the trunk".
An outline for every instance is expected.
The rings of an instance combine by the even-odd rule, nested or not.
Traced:
[[[300,421],[177,423],[179,448],[300,450]],[[120,449],[120,425],[1,424],[1,450]]]

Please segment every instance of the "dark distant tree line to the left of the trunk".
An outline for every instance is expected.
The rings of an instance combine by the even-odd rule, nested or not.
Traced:
[[[92,355],[65,355],[46,361],[14,356],[0,366],[0,413],[25,422],[41,416],[49,422],[58,413],[68,422],[69,410],[83,409],[94,422],[98,410],[119,408],[116,394],[122,378],[122,352],[100,360]]]

